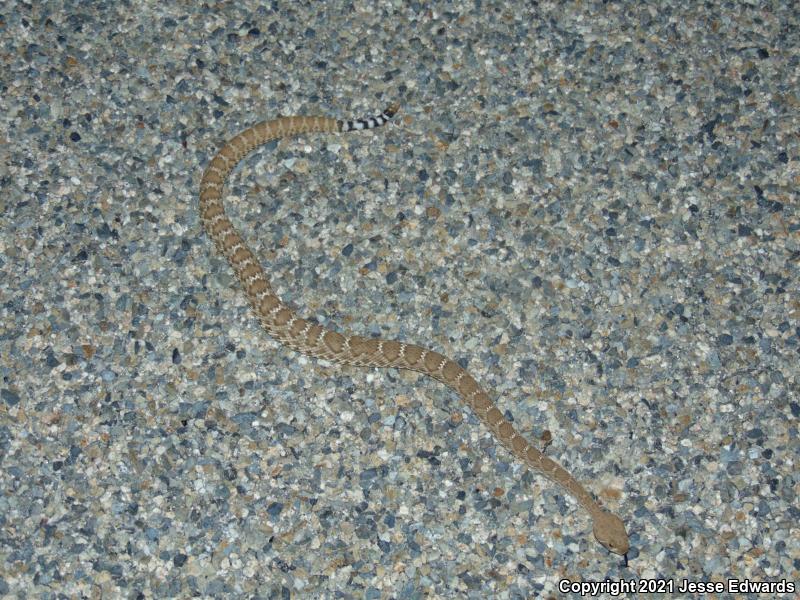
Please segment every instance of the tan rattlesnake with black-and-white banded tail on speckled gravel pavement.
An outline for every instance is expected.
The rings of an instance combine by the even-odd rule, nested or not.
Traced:
[[[361,367],[394,367],[430,375],[455,390],[497,440],[528,467],[560,485],[589,513],[597,541],[627,562],[628,534],[622,520],[604,509],[561,465],[527,442],[466,370],[449,358],[414,344],[338,333],[298,316],[278,298],[258,260],[236,232],[222,203],[225,180],[251,150],[277,138],[303,133],[344,133],[373,129],[397,111],[391,106],[377,117],[339,121],[327,117],[282,117],[264,121],[232,138],[211,160],[200,183],[200,218],[217,250],[228,259],[261,325],[292,350],[334,363]]]

